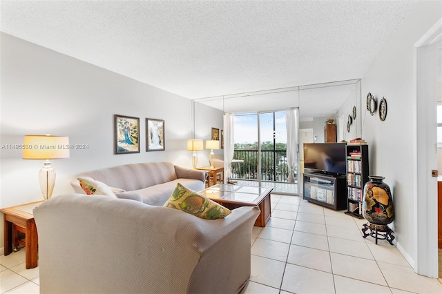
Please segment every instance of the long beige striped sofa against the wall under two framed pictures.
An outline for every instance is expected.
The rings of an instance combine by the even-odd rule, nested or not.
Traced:
[[[195,191],[204,189],[206,171],[182,168],[171,162],[143,162],[93,170],[78,177],[110,186],[118,198],[162,206],[177,183]],[[84,193],[77,179],[71,185],[76,193]]]

